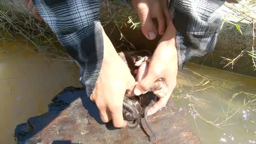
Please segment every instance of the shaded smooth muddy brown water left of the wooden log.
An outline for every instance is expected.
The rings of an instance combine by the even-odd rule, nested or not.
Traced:
[[[2,42],[0,49],[0,143],[15,143],[17,124],[43,114],[64,87],[80,86],[73,62],[46,59],[22,42]],[[26,50],[27,49],[27,50]]]

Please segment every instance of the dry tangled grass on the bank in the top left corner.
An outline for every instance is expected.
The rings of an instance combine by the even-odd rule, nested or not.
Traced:
[[[3,5],[0,6],[0,29],[1,39],[28,41],[37,49],[54,49],[55,52],[61,52],[57,49],[59,44],[57,38],[44,22],[35,19],[31,13],[15,14],[11,4],[8,9]]]

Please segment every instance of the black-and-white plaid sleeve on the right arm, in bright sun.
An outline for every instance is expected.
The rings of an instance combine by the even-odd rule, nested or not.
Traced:
[[[194,57],[212,51],[222,25],[220,6],[225,0],[170,0],[177,29],[178,64],[182,69]]]

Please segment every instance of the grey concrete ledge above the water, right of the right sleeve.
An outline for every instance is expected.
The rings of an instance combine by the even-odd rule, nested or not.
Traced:
[[[237,23],[237,25],[241,28],[242,34],[239,33],[235,25],[228,22],[224,23],[221,32],[218,35],[218,41],[214,51],[210,54],[205,54],[204,57],[190,60],[190,62],[197,63],[198,65],[205,65],[238,74],[256,77],[256,73],[254,71],[255,67],[253,67],[252,63],[252,57],[250,57],[246,52],[252,50],[252,19],[254,19],[254,21],[256,19],[256,13],[254,13],[256,7],[251,5],[251,14],[249,14],[246,13],[248,11],[247,6],[248,3],[246,0],[242,0],[239,1],[239,3],[233,4],[225,3],[225,5],[221,7],[222,18],[229,22]],[[234,9],[237,9],[240,12],[235,11]],[[246,15],[249,15],[249,17]],[[231,68],[231,65],[229,67],[223,68],[225,65],[227,65],[228,61],[225,61],[221,57],[234,59],[243,50],[245,50],[243,56],[239,58],[238,61],[236,61],[233,69]]]

